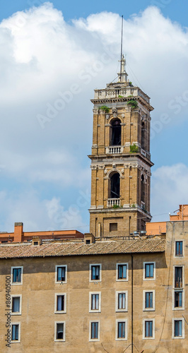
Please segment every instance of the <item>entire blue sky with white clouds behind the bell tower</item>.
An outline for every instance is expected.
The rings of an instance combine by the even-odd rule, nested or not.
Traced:
[[[155,107],[153,221],[188,203],[187,11],[186,0],[1,1],[0,232],[88,232],[90,99],[117,76],[122,15],[129,80]]]

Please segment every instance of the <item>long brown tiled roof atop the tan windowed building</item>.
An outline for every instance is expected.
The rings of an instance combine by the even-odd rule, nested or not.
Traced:
[[[105,255],[110,253],[158,253],[163,251],[165,251],[165,239],[96,241],[94,244],[89,245],[83,242],[51,242],[40,246],[20,243],[0,245],[0,258]]]

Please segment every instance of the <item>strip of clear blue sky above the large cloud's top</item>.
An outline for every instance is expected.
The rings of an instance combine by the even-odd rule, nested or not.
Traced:
[[[1,1],[1,14],[0,18],[11,16],[16,11],[23,11],[30,8],[30,6],[40,6],[45,3],[44,0],[8,0],[7,2]],[[95,0],[95,1],[52,1],[54,7],[62,11],[65,20],[72,20],[73,18],[83,17],[86,18],[90,13],[99,13],[102,11],[112,11],[119,13],[120,16],[124,15],[129,18],[133,13],[139,13],[146,7],[155,5],[160,8],[165,17],[169,17],[172,21],[177,21],[182,26],[187,27],[187,0],[180,0],[177,4],[175,0],[132,0],[124,1],[119,0],[118,3],[112,0]]]

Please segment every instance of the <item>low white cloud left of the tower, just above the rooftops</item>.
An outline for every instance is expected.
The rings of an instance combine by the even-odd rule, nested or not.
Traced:
[[[14,222],[23,222],[25,232],[55,229],[78,229],[80,232],[86,232],[88,225],[82,217],[83,205],[88,206],[86,197],[81,191],[79,198],[82,203],[75,202],[64,206],[60,198],[53,197],[41,201],[34,190],[19,195],[1,191],[1,232],[13,232]]]

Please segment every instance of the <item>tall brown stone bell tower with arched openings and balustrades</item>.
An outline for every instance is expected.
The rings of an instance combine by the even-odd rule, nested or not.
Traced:
[[[127,80],[122,55],[116,83],[95,90],[90,232],[126,237],[151,220],[150,98]]]

